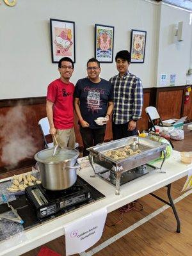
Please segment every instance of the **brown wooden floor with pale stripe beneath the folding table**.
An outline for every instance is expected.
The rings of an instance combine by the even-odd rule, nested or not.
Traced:
[[[183,141],[173,141],[175,150],[189,151],[192,150],[192,132],[186,130]],[[172,197],[177,198],[180,193],[186,177],[172,184]],[[156,191],[156,195],[166,198],[166,188]],[[144,205],[143,211],[130,211],[124,214],[122,222],[115,227],[105,227],[102,238],[95,246],[107,241],[110,237],[115,236],[127,227],[137,221],[145,218],[148,214],[163,207],[163,203],[151,195],[140,198],[139,202]],[[180,200],[176,204],[176,209],[181,221],[181,232],[176,232],[176,220],[170,207],[158,214],[156,217],[147,221],[147,223],[134,229],[115,243],[106,246],[106,248],[95,253],[95,256],[189,256],[192,252],[192,194]],[[107,223],[112,224],[119,220],[120,212],[118,210],[108,214]],[[65,255],[65,237],[59,237],[45,246],[60,255]],[[93,246],[93,248],[95,247]],[[90,248],[91,249],[91,248]],[[89,250],[90,250],[89,249]],[[89,251],[88,250],[88,251]],[[22,256],[35,256],[40,251],[40,247]]]

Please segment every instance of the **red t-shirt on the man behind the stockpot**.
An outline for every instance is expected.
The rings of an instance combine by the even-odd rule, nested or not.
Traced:
[[[54,102],[53,122],[56,129],[70,129],[74,127],[74,90],[72,83],[63,83],[56,79],[47,88],[47,100]]]

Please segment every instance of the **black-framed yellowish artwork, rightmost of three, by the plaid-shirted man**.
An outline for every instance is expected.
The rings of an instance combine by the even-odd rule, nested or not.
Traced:
[[[131,30],[131,63],[143,63],[147,31]]]

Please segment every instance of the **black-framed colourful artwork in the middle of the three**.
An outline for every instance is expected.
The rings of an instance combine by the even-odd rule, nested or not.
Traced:
[[[100,62],[113,62],[114,27],[95,24],[95,58]]]

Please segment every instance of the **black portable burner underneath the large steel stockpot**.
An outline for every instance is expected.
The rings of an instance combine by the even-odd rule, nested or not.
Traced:
[[[35,207],[39,219],[71,209],[72,206],[94,202],[104,195],[77,175],[77,181],[71,188],[61,191],[50,191],[41,184],[26,188],[26,198]]]

